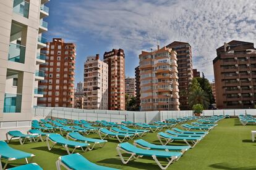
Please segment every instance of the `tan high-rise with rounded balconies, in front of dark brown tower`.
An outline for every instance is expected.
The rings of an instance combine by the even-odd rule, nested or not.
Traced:
[[[139,55],[140,110],[179,110],[177,53],[163,47]]]

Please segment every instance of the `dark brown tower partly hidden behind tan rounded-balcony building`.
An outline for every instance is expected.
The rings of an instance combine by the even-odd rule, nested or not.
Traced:
[[[188,42],[171,42],[168,48],[177,52],[177,65],[179,76],[179,102],[181,110],[189,110],[189,84],[193,78],[192,50]]]

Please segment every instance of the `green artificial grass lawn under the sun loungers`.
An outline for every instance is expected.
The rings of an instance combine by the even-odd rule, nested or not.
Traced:
[[[251,132],[256,130],[253,125],[242,126],[239,119],[223,119],[218,122],[210,133],[194,148],[187,151],[181,159],[174,162],[168,169],[256,169],[256,143],[252,142]],[[160,144],[156,133],[138,138],[154,144]],[[87,137],[98,138],[98,134]],[[117,169],[160,169],[152,158],[139,158],[122,164],[116,152],[119,144],[116,139],[107,139],[109,142],[103,148],[80,152],[93,163]],[[129,140],[130,143],[133,140]],[[185,145],[185,143],[173,143]],[[67,155],[66,150],[54,147],[48,151],[46,142],[26,143],[20,145],[18,141],[9,144],[13,148],[35,154],[33,162],[43,169],[56,169],[55,162],[61,155]],[[25,163],[25,160],[10,161],[9,168]]]

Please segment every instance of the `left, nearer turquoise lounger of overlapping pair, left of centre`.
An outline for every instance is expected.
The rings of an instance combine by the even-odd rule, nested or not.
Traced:
[[[52,142],[53,145],[50,146],[49,142]],[[46,144],[47,144],[48,150],[51,150],[54,147],[54,145],[62,145],[62,147],[66,149],[68,154],[70,154],[69,147],[74,148],[71,152],[71,153],[74,153],[75,149],[77,148],[81,148],[82,151],[85,152],[88,149],[88,146],[90,146],[90,144],[87,144],[87,143],[67,140],[60,134],[48,134],[46,137]],[[86,149],[84,149],[83,147],[86,147]]]

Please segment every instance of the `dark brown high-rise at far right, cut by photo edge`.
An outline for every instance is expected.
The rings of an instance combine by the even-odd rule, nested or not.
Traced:
[[[217,108],[254,108],[256,49],[254,43],[230,41],[216,49],[213,60]]]

